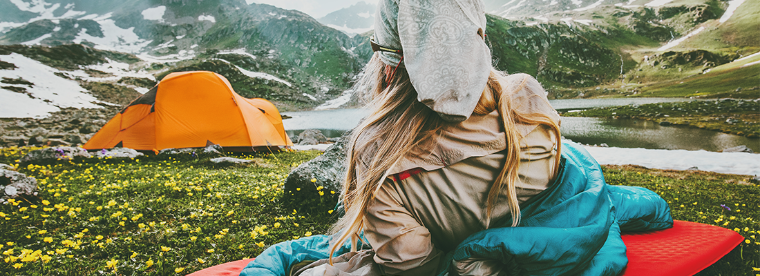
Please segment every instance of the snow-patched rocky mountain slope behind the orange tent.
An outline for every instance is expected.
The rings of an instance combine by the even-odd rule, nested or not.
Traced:
[[[119,76],[128,71],[138,74],[138,79],[155,82],[172,71],[202,69],[224,74],[243,96],[270,99],[284,110],[309,108],[347,89],[353,75],[369,58],[352,52],[358,45],[354,39],[319,24],[307,14],[271,5],[248,5],[243,0],[0,0],[0,8],[0,21],[5,21],[0,22],[0,44],[49,46],[52,48],[30,49],[60,52],[61,45],[78,43],[84,45],[79,47],[84,52],[131,54],[129,61],[98,60],[100,64],[118,63],[124,69],[119,74],[92,68],[97,64],[68,62],[66,54],[52,59],[56,62],[46,62],[24,47],[5,48],[8,53],[3,55],[8,58],[0,55],[2,65],[11,69],[17,67],[14,62],[24,66],[33,63],[15,56],[21,55],[42,61],[52,74],[83,71],[84,79],[76,81],[84,87],[84,93],[90,94],[96,93],[90,91],[93,86],[82,81],[135,89],[128,82],[119,82]],[[11,79],[5,84],[24,79],[20,73],[23,70],[15,71],[0,71],[0,75]],[[104,79],[104,74],[110,74],[113,80]],[[74,80],[71,76],[69,79]],[[12,86],[10,90],[0,89],[0,99],[14,98],[2,94],[24,89],[18,83]],[[26,94],[31,99],[52,101],[40,95],[40,87],[29,88]],[[91,107],[49,105],[46,110]]]

